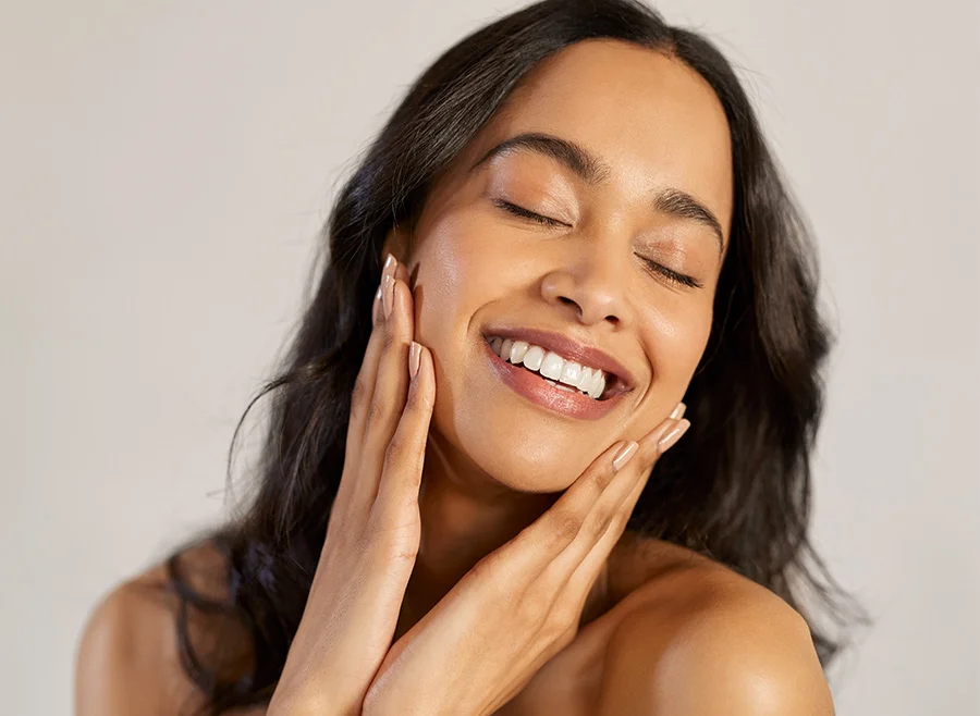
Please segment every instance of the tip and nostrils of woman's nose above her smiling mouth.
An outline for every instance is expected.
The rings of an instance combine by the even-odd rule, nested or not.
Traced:
[[[618,328],[626,318],[624,292],[628,275],[621,251],[610,250],[600,242],[581,250],[568,245],[560,250],[563,251],[561,266],[541,281],[543,298],[564,310],[574,310],[578,321],[586,325],[608,321]]]

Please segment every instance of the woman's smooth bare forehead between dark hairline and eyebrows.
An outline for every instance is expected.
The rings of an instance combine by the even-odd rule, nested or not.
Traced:
[[[621,201],[647,201],[663,186],[693,194],[727,236],[727,121],[708,83],[682,62],[616,40],[572,45],[522,79],[470,143],[463,164],[524,132],[558,135],[596,155],[609,165]]]

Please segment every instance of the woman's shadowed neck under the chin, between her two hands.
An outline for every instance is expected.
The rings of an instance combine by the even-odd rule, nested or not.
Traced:
[[[395,639],[428,614],[474,565],[540,517],[558,496],[502,485],[440,436],[430,434],[418,496],[421,539]]]

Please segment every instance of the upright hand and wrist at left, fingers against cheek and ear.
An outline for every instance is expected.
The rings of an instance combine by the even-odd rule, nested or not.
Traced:
[[[418,489],[436,397],[431,355],[409,348],[415,318],[407,279],[389,257],[327,539],[269,716],[359,714],[391,647],[418,553]],[[409,380],[416,351],[418,372]]]

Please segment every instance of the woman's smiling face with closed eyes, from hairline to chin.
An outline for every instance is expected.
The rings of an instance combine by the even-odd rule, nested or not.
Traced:
[[[491,151],[526,134],[538,139]],[[539,64],[434,183],[411,237],[433,439],[490,480],[554,492],[647,434],[705,350],[731,211],[728,127],[697,73],[603,40]],[[531,365],[535,345],[573,360],[509,366],[494,335],[524,337]],[[574,381],[565,362],[604,365],[609,391],[628,390],[596,400],[541,375]]]

